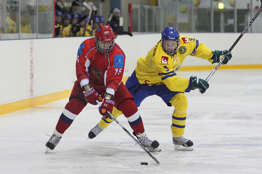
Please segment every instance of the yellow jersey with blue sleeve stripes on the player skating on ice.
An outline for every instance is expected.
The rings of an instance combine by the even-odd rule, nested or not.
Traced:
[[[180,35],[180,46],[174,56],[169,56],[162,49],[161,40],[148,52],[146,57],[137,60],[135,68],[140,84],[165,84],[171,91],[184,92],[189,85],[189,78],[177,77],[185,57],[191,55],[206,59],[212,63],[213,53],[197,39]]]

